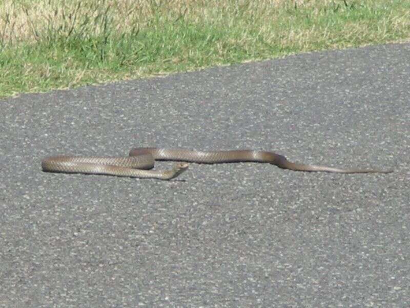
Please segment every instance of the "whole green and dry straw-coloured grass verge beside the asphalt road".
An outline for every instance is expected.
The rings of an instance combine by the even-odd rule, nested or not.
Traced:
[[[402,0],[4,0],[0,97],[409,37]]]

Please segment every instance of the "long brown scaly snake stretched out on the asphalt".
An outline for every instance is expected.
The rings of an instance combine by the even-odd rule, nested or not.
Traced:
[[[155,161],[177,161],[170,170],[150,170]],[[128,157],[52,156],[42,160],[46,172],[111,175],[119,177],[173,179],[188,169],[188,163],[219,164],[237,162],[269,163],[282,169],[306,172],[338,172],[344,174],[382,173],[393,170],[342,169],[293,163],[275,152],[262,150],[197,151],[157,147],[133,148]]]

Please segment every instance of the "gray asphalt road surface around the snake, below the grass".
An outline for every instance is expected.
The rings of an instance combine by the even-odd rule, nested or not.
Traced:
[[[2,307],[408,307],[410,45],[0,101]],[[388,175],[191,164],[50,174],[57,154],[275,150]],[[158,168],[172,165],[160,162]]]

